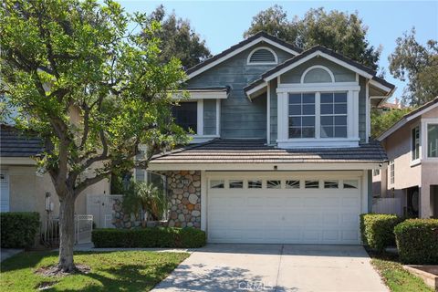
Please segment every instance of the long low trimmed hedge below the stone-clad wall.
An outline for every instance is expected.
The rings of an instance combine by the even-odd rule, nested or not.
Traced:
[[[205,233],[194,228],[148,227],[138,229],[96,229],[91,241],[95,247],[201,247]]]

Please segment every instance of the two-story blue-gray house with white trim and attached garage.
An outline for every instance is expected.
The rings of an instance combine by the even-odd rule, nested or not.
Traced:
[[[175,108],[193,144],[157,155],[171,226],[210,243],[360,244],[371,171],[370,108],[394,86],[326,47],[258,33],[187,71]]]

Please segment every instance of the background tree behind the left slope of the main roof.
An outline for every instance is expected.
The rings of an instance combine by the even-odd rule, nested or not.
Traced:
[[[172,57],[177,57],[181,60],[183,68],[191,68],[212,57],[210,50],[205,46],[205,40],[201,40],[201,37],[195,33],[189,20],[178,18],[174,13],[166,16],[163,5],[159,5],[152,12],[150,19],[161,24],[154,36],[161,39],[159,47],[162,50],[160,54],[162,62],[167,63]]]

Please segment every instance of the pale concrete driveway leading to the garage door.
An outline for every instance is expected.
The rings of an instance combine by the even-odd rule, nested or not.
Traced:
[[[152,291],[388,291],[357,245],[207,245]]]

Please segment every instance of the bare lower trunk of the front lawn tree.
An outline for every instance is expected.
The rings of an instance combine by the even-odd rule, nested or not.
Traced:
[[[75,243],[75,197],[68,194],[59,198],[59,263],[57,267],[66,273],[75,270],[73,245]]]

